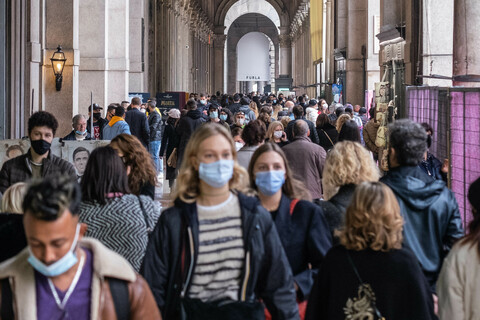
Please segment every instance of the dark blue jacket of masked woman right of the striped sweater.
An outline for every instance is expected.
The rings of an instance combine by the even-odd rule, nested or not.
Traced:
[[[298,285],[299,300],[306,300],[323,258],[332,246],[328,224],[320,207],[298,201],[290,215],[292,200],[282,195],[273,220]]]

